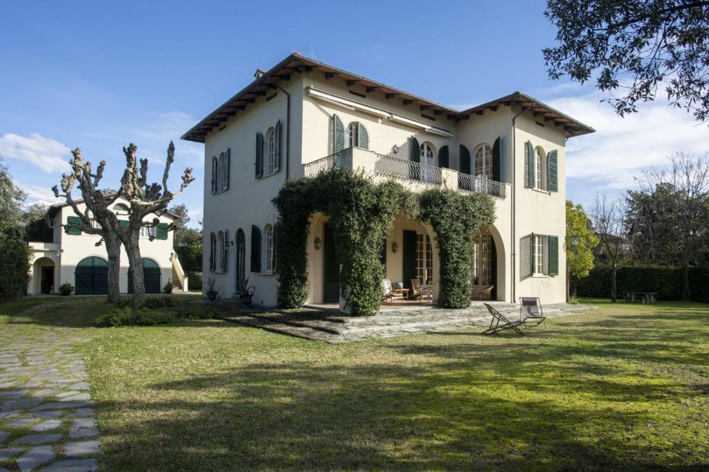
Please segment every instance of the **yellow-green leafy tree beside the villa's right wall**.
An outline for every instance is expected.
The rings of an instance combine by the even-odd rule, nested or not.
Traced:
[[[566,300],[569,300],[569,278],[583,279],[593,269],[593,248],[598,246],[591,220],[581,205],[566,201]]]

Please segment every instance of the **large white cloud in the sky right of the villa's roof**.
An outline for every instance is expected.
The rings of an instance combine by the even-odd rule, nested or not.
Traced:
[[[638,113],[620,118],[600,94],[566,97],[549,105],[596,128],[596,133],[566,142],[566,176],[594,181],[607,189],[635,186],[642,169],[664,166],[677,151],[708,150],[709,127],[666,100],[645,103]]]

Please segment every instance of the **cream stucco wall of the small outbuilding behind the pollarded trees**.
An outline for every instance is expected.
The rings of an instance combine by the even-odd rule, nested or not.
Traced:
[[[123,199],[118,199],[117,203],[127,203]],[[79,203],[79,210],[84,211],[84,204]],[[61,224],[67,224],[67,218],[69,216],[74,216],[74,210],[69,206],[63,206],[55,215],[55,226]],[[119,219],[128,218],[127,216],[121,217]],[[152,221],[155,215],[150,215],[145,218],[145,221]],[[161,215],[158,217],[160,223],[172,223],[172,216]],[[60,227],[55,227],[54,232],[54,242],[43,243],[43,242],[30,242],[30,248],[35,254],[35,261],[40,258],[51,259],[55,264],[55,291],[63,283],[71,283],[76,285],[74,279],[74,270],[77,264],[81,262],[82,259],[91,256],[98,256],[104,260],[108,260],[108,254],[106,254],[106,246],[101,244],[96,246],[96,242],[99,242],[101,237],[99,235],[89,235],[82,232],[81,235],[67,235],[66,232],[61,230]],[[140,254],[142,257],[147,259],[152,259],[157,262],[160,266],[160,288],[167,283],[168,279],[172,279],[172,261],[170,259],[173,249],[173,232],[167,232],[167,240],[140,240]],[[46,259],[42,259],[45,261]],[[42,262],[40,261],[40,262]],[[28,293],[34,294],[39,293],[39,281],[38,277],[35,276],[35,265],[32,266],[32,280],[28,283]],[[123,245],[121,245],[121,272],[119,275],[119,288],[121,293],[128,292],[128,255],[125,253]]]

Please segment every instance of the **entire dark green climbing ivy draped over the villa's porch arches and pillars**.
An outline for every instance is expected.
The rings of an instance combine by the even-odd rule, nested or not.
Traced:
[[[445,276],[442,305],[460,308],[463,290],[467,290],[469,303],[469,256],[474,233],[481,225],[492,223],[494,213],[492,201],[486,196],[437,189],[418,195],[395,181],[375,184],[362,172],[341,169],[287,181],[273,202],[278,211],[279,307],[299,308],[306,303],[308,231],[311,216],[320,212],[328,215],[333,226],[335,252],[341,265],[340,294],[345,308],[354,315],[373,315],[379,309],[381,279],[385,276],[379,261],[381,242],[391,231],[396,215],[401,214],[430,222],[437,233],[440,230],[441,235],[446,235],[437,238],[440,253],[446,254],[445,262],[441,257],[441,274],[450,267],[462,279]],[[451,221],[443,221],[445,218]],[[447,242],[449,237],[459,241]],[[464,253],[451,254],[456,247]],[[467,264],[464,274],[463,259]]]

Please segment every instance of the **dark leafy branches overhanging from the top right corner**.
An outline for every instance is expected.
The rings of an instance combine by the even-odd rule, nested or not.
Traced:
[[[664,84],[674,106],[709,118],[709,1],[547,0],[545,16],[559,42],[544,50],[552,79],[596,79],[620,116]]]

